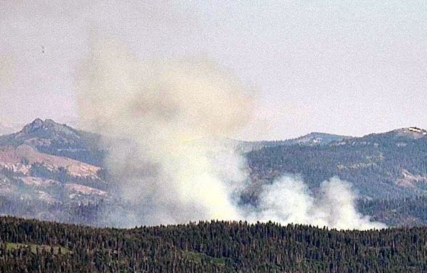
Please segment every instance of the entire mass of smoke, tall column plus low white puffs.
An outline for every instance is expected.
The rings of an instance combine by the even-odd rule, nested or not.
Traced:
[[[106,136],[116,194],[129,204],[108,215],[115,225],[248,219],[379,227],[356,212],[349,186],[335,179],[315,199],[301,181],[284,178],[263,188],[256,211],[240,208],[245,161],[221,139],[248,122],[252,101],[209,60],[142,62],[117,41],[94,41],[78,89],[80,116]]]

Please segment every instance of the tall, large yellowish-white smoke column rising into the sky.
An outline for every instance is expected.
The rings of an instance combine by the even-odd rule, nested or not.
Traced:
[[[138,224],[238,218],[230,198],[233,180],[244,178],[238,161],[223,172],[209,156],[210,139],[249,117],[251,100],[236,80],[206,60],[142,63],[120,43],[102,41],[93,43],[79,87],[90,126],[132,140],[108,143],[108,166],[122,179],[122,197],[141,210],[132,212]]]

